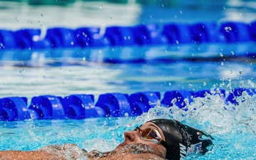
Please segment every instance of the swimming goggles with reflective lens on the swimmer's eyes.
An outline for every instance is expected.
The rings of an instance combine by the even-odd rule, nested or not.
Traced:
[[[161,139],[161,134],[156,129],[140,129],[139,127],[136,127],[134,131],[139,131],[140,134],[142,134],[142,139],[147,141],[155,142],[156,144],[161,144],[164,142],[164,140]]]

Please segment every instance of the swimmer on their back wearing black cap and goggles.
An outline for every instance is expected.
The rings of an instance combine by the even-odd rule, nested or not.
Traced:
[[[206,154],[213,137],[174,119],[153,119],[124,132],[124,142],[113,151],[90,152],[75,144],[46,146],[37,151],[0,151],[0,159],[185,159]]]

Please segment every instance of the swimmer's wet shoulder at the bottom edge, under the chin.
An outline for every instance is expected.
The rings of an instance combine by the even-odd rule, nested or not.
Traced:
[[[112,156],[106,156],[97,160],[146,160],[146,159],[153,159],[153,160],[165,160],[156,154],[114,154]]]

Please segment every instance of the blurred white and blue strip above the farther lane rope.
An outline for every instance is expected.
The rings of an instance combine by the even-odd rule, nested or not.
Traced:
[[[1,0],[0,28],[250,22],[255,13],[256,2],[252,0]]]

